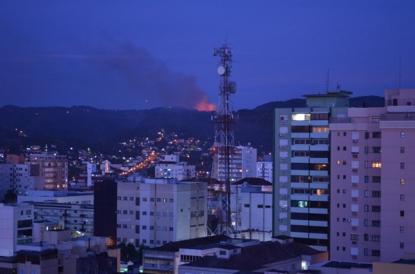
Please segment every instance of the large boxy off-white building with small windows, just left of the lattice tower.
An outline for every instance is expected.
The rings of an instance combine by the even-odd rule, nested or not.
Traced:
[[[117,191],[117,242],[152,248],[206,235],[206,183],[150,178]]]

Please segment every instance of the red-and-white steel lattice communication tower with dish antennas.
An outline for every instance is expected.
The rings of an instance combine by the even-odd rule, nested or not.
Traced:
[[[230,81],[232,72],[232,49],[227,43],[221,48],[214,48],[213,56],[218,56],[219,80],[219,103],[216,113],[212,117],[214,122],[214,153],[213,177],[219,180],[219,187],[210,186],[210,217],[215,216],[216,226],[208,224],[208,231],[214,235],[235,235],[240,222],[239,211],[232,212],[230,204],[231,182],[234,181],[231,175],[231,164],[234,152],[234,123],[237,117],[232,113],[233,106],[230,95],[237,91],[237,84]],[[216,206],[212,200],[216,199]],[[237,199],[236,201],[237,202]],[[233,220],[232,220],[233,219]],[[240,227],[240,226],[239,226]]]

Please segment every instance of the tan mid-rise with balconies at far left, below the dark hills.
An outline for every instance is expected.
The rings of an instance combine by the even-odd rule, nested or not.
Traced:
[[[45,178],[45,189],[68,188],[68,159],[65,155],[30,154],[26,156],[26,164],[39,166],[39,176]]]

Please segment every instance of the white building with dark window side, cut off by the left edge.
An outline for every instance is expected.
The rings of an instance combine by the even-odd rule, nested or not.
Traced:
[[[0,204],[0,256],[12,256],[18,244],[30,244],[33,237],[33,206]]]

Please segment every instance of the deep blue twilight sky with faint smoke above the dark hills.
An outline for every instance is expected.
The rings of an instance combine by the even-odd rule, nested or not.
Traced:
[[[0,106],[217,104],[233,48],[234,109],[339,83],[415,88],[415,1],[0,1]],[[401,65],[399,66],[399,58]]]

